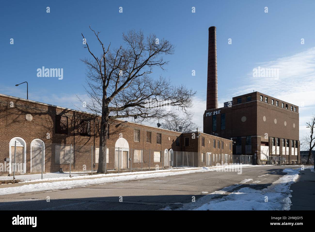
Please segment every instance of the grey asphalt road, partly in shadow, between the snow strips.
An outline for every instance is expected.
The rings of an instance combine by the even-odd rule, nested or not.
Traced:
[[[158,210],[177,209],[202,202],[201,197],[234,184],[265,188],[276,181],[284,168],[296,166],[255,166],[237,172],[199,172],[76,187],[65,190],[0,196],[1,210]],[[268,175],[265,175],[268,174]],[[253,179],[246,183],[245,179]],[[253,181],[261,181],[250,185]],[[235,190],[235,189],[234,189]],[[50,199],[47,202],[47,199]],[[199,199],[199,201],[198,201]]]

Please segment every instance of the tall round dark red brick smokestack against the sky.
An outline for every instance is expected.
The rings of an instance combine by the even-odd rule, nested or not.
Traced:
[[[218,75],[216,63],[216,27],[209,27],[207,109],[218,108]]]

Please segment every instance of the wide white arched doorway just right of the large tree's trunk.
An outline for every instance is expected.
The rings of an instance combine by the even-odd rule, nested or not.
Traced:
[[[119,138],[115,143],[115,170],[129,168],[129,144],[126,139]]]

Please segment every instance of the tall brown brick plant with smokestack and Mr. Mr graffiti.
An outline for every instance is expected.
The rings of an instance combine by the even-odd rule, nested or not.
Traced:
[[[299,108],[260,92],[233,97],[218,108],[216,29],[209,27],[207,108],[203,131],[233,140],[233,155],[254,164],[296,163],[300,157]],[[269,157],[269,158],[268,158]]]

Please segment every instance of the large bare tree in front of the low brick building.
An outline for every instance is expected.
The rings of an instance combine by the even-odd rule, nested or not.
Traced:
[[[173,114],[163,107],[148,107],[148,102],[152,99],[156,102],[155,105],[162,101],[188,113],[187,108],[192,107],[192,98],[196,92],[183,85],[173,86],[169,79],[162,76],[156,79],[150,76],[155,68],[164,70],[168,63],[164,60],[164,55],[174,53],[174,46],[168,40],[158,41],[154,34],[145,38],[142,31],[131,30],[123,33],[125,47],[110,50],[110,44],[106,48],[101,41],[100,32],[91,31],[102,50],[97,56],[90,50],[89,43],[84,45],[92,56],[82,60],[87,66],[85,90],[89,101],[86,102],[86,109],[101,116],[97,172],[104,173],[110,119],[134,117],[137,122],[142,122]],[[83,34],[82,37],[86,41]],[[84,102],[83,99],[79,100]]]

